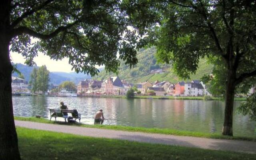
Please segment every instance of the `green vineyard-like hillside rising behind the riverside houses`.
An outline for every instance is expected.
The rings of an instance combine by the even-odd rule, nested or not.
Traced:
[[[154,57],[155,53],[156,48],[141,49],[137,54],[138,64],[136,64],[134,68],[130,69],[130,67],[125,65],[122,61],[119,67],[118,76],[121,79],[125,79],[131,83],[139,83],[146,80],[150,82],[154,82],[156,80],[168,80],[169,82],[181,81],[182,79],[178,78],[178,76],[172,71],[172,66],[170,64],[156,63],[156,58]],[[210,74],[212,72],[212,67],[212,64],[208,64],[207,60],[200,60],[199,68],[196,74],[192,74],[190,76],[191,79],[200,79],[202,76],[204,76],[204,74]],[[150,73],[150,71],[154,69],[163,69],[164,73]],[[102,70],[102,72],[100,72],[96,78],[101,80],[106,79],[108,76],[116,76],[116,74],[106,73],[105,70]]]

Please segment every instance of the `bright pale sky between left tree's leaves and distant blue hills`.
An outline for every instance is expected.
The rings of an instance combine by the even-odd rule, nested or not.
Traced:
[[[21,54],[10,52],[12,62],[24,64],[25,59]],[[68,64],[68,58],[62,60],[51,60],[49,56],[42,53],[38,54],[38,57],[34,58],[37,66],[46,65],[50,72],[74,72],[71,70],[72,66]]]

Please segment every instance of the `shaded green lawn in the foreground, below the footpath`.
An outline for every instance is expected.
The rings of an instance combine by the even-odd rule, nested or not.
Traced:
[[[22,160],[255,160],[255,154],[16,130]]]

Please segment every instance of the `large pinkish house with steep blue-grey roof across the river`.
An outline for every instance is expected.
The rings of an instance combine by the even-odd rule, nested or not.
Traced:
[[[124,88],[124,84],[119,77],[109,77],[107,80],[102,82],[101,88],[103,93],[119,95],[122,90],[120,90],[120,88]]]

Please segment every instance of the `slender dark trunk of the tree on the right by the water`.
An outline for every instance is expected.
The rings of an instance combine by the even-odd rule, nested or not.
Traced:
[[[233,136],[232,126],[235,87],[234,74],[229,73],[228,82],[226,84],[225,117],[222,128],[222,134],[227,136]]]

